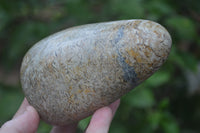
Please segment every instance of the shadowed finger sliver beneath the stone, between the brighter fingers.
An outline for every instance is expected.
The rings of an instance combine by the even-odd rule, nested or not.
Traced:
[[[51,133],[75,133],[76,132],[76,124],[70,124],[67,126],[54,126],[51,130]]]

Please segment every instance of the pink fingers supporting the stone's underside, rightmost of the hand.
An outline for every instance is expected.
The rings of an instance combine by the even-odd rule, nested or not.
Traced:
[[[86,133],[108,133],[110,123],[119,104],[120,100],[117,100],[107,107],[98,109],[92,116]]]

